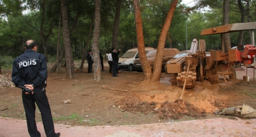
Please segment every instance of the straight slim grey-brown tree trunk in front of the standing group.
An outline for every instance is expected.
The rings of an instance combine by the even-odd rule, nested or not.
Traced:
[[[94,80],[101,80],[101,63],[99,52],[99,39],[100,39],[100,0],[95,0],[95,23],[92,37],[92,53],[93,53],[93,71]]]

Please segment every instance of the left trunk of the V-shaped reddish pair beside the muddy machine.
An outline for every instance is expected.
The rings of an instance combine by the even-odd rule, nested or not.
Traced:
[[[142,28],[142,20],[140,15],[140,3],[139,0],[133,0],[133,9],[135,16],[135,26],[136,26],[136,35],[138,42],[138,52],[140,54],[140,62],[143,68],[143,79],[144,81],[149,82],[151,80],[152,71],[147,60],[146,52],[145,52],[145,44],[144,44],[144,36],[143,36],[143,28]]]

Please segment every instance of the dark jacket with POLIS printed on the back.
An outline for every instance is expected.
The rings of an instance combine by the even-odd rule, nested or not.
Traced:
[[[32,49],[27,49],[13,61],[12,82],[15,86],[33,84],[42,86],[47,79],[47,63],[45,56]]]

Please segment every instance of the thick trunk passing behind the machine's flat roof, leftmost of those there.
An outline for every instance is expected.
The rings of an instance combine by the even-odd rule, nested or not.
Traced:
[[[229,23],[229,6],[228,6],[229,0],[223,1],[223,25],[228,25]],[[230,34],[225,33],[224,34],[224,45],[225,45],[225,53],[228,53],[228,50],[231,49],[231,42],[230,42]],[[229,75],[229,78],[232,80],[236,79],[236,72],[235,72],[235,66],[232,63],[228,63],[230,71],[233,72],[233,74]]]

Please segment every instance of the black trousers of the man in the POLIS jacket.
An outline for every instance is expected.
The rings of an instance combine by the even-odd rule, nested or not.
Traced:
[[[22,100],[23,100],[23,105],[26,112],[29,135],[31,137],[41,137],[40,132],[37,130],[36,120],[35,120],[35,111],[36,111],[36,104],[37,104],[41,112],[46,136],[55,137],[56,133],[54,131],[52,113],[50,109],[50,104],[45,94],[45,90],[42,91],[42,87],[36,87],[34,89],[33,95],[32,94],[27,95],[25,94],[25,92],[22,92]]]

